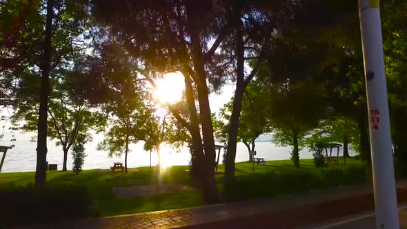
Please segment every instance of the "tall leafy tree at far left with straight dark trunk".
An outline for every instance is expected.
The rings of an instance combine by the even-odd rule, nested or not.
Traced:
[[[59,0],[28,1],[28,3],[23,1],[21,8],[20,4],[14,1],[1,3],[2,10],[5,9],[5,12],[8,12],[6,15],[12,17],[2,21],[1,34],[5,35],[6,39],[1,40],[3,42],[0,78],[10,82],[10,77],[18,81],[21,74],[28,72],[35,73],[36,77],[41,75],[41,87],[37,92],[39,94],[35,175],[37,187],[43,187],[46,183],[50,74],[54,74],[55,70],[72,61],[70,57],[83,43],[83,39],[78,37],[83,34],[87,23],[84,3]],[[14,103],[8,101],[9,104],[10,102]]]

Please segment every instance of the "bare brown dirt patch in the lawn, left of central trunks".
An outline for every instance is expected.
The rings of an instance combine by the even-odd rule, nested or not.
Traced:
[[[135,198],[155,196],[166,193],[184,192],[186,190],[194,190],[190,186],[185,186],[179,183],[164,183],[164,184],[152,184],[146,186],[130,186],[130,187],[115,187],[112,188],[117,198]]]

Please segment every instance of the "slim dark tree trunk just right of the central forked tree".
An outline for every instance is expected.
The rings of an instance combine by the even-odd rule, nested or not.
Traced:
[[[226,179],[235,177],[235,158],[237,148],[237,131],[239,130],[239,119],[241,113],[241,103],[244,93],[244,43],[241,31],[241,21],[237,23],[237,78],[235,97],[233,99],[232,115],[229,120],[228,151],[226,152],[225,176]]]

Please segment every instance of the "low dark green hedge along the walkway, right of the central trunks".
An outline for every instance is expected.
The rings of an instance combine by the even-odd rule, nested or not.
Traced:
[[[284,170],[268,175],[236,177],[225,183],[225,201],[272,197],[290,193],[308,192],[330,187],[364,183],[364,166],[321,168],[315,170]]]

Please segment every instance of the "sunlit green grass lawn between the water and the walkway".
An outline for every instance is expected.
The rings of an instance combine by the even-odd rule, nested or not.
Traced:
[[[336,186],[349,186],[363,183],[365,180],[364,163],[356,159],[347,159],[339,165],[328,168],[314,168],[312,159],[301,160],[301,168],[295,168],[292,161],[267,161],[266,166],[255,166],[252,174],[252,163],[236,163],[235,180],[224,182],[224,175],[216,175],[217,187],[221,192],[222,201],[237,201],[257,197],[272,197],[296,192],[307,192]],[[117,199],[113,187],[139,186],[152,183],[182,183],[192,186],[188,175],[189,166],[173,166],[165,175],[156,179],[149,167],[139,168],[139,172],[127,174],[119,172],[100,172],[99,170],[83,170],[79,175],[72,171],[48,171],[47,185],[52,188],[84,187],[100,216],[121,215],[135,212],[187,208],[203,205],[199,190],[157,195]],[[219,170],[224,170],[219,165]],[[34,172],[12,172],[0,174],[1,190],[22,189],[32,186]]]

